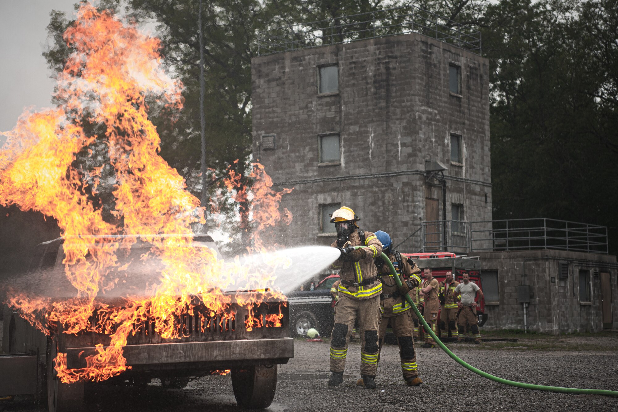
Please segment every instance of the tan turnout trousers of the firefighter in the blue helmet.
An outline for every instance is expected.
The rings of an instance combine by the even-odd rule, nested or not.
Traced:
[[[383,318],[380,321],[380,329],[378,331],[378,342],[380,353],[384,344],[384,336],[386,328],[391,321],[392,332],[397,337],[397,345],[399,346],[399,357],[401,358],[401,369],[404,373],[404,379],[417,377],[417,352],[414,350],[414,339],[412,339],[414,322],[412,320],[412,310],[402,313],[397,316]],[[378,356],[379,359],[379,356]]]

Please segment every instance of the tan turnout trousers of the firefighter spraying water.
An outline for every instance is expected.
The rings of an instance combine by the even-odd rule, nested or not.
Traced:
[[[376,376],[378,368],[378,326],[380,295],[357,300],[339,295],[335,311],[335,326],[331,334],[331,372],[343,372],[350,332],[358,319],[360,335],[360,373]]]

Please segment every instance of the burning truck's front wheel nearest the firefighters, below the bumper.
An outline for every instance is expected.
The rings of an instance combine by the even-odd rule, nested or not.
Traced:
[[[268,408],[277,389],[277,365],[232,369],[232,389],[242,408]]]

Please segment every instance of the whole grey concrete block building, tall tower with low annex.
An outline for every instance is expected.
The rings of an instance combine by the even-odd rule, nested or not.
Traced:
[[[277,243],[331,244],[329,213],[347,205],[400,252],[480,258],[486,328],[616,328],[607,228],[492,220],[488,60],[468,47],[474,35],[450,27],[452,36],[412,30],[334,44],[323,29],[318,43],[298,41],[310,28],[258,46],[253,159],[276,187],[294,187],[282,199],[294,218]]]

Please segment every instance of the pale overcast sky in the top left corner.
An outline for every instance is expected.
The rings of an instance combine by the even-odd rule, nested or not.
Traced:
[[[0,0],[0,131],[11,130],[25,107],[51,106],[54,82],[41,56],[49,12],[72,14],[77,0]]]

